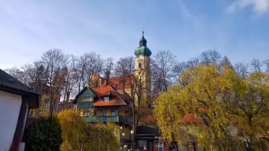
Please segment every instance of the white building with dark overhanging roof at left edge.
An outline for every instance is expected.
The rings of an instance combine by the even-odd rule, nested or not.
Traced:
[[[39,96],[0,69],[0,151],[24,151],[25,123],[29,110],[38,108]]]

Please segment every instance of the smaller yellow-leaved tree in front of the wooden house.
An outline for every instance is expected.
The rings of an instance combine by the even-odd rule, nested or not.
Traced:
[[[120,129],[112,123],[89,124],[73,110],[58,114],[62,126],[62,151],[118,151]]]

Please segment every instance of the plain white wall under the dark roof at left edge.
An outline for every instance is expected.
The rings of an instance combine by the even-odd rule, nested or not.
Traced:
[[[8,151],[21,109],[21,95],[0,91],[0,151]]]

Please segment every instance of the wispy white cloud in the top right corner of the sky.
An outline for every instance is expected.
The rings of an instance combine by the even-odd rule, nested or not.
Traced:
[[[226,8],[226,11],[233,13],[237,9],[243,9],[247,6],[251,6],[255,15],[260,16],[269,11],[269,0],[236,0]]]

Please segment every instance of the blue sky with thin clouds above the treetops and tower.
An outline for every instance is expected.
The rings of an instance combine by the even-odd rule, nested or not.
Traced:
[[[0,68],[44,51],[134,56],[145,32],[155,55],[180,61],[216,49],[232,63],[269,57],[269,0],[0,0]]]

